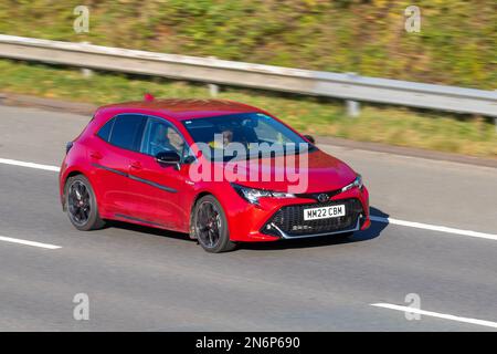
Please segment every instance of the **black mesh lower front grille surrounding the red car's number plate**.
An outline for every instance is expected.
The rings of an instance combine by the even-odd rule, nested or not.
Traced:
[[[320,208],[335,205],[346,206],[346,216],[338,218],[326,218],[317,220],[304,220],[304,209]],[[305,204],[286,206],[276,211],[272,218],[263,226],[261,232],[271,236],[281,236],[271,225],[274,223],[289,237],[337,232],[352,229],[362,214],[361,202],[356,199],[342,199],[327,202]]]

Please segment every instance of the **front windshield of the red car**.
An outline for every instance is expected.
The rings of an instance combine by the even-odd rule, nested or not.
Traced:
[[[274,157],[317,148],[284,124],[262,113],[183,121],[197,146],[211,159]]]

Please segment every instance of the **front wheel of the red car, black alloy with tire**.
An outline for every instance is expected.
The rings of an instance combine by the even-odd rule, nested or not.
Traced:
[[[221,253],[236,248],[236,243],[230,240],[224,210],[214,196],[207,195],[197,201],[191,220],[190,229],[205,251]]]

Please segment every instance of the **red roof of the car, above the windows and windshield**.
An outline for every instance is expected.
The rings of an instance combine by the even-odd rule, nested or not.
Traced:
[[[229,100],[166,98],[125,102],[102,106],[98,112],[125,113],[126,111],[160,113],[178,121],[212,117],[236,113],[263,112],[260,108]]]

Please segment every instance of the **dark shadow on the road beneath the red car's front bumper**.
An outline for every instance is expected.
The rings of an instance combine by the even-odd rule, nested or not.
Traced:
[[[378,208],[370,207],[371,216],[388,218],[389,215],[381,211]],[[381,235],[381,232],[388,227],[387,222],[371,222],[369,229],[364,231],[357,231],[352,237],[342,237],[340,235],[330,235],[322,237],[310,237],[304,239],[295,240],[281,240],[275,242],[245,242],[240,243],[239,249],[245,250],[258,250],[258,251],[269,251],[278,249],[294,249],[294,248],[311,248],[311,247],[324,247],[341,243],[355,243],[376,239]]]

